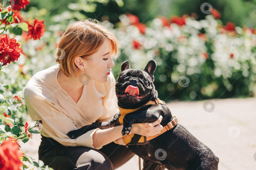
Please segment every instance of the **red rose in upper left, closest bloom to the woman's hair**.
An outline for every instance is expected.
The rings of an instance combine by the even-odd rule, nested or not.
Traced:
[[[34,40],[39,39],[40,37],[44,35],[44,20],[38,21],[37,17],[34,20],[34,25],[30,25],[27,21],[25,21],[28,25],[28,38],[32,38]]]

